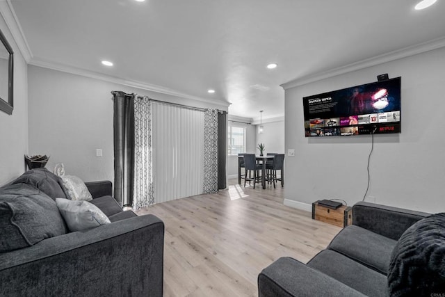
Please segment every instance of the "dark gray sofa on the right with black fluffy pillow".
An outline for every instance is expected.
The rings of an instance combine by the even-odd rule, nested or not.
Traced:
[[[359,202],[353,225],[325,250],[307,264],[277,259],[258,289],[260,297],[445,296],[445,214]]]

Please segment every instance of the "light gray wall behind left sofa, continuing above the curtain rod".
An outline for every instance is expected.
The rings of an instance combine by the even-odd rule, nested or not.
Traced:
[[[56,163],[64,163],[65,174],[77,175],[84,181],[114,179],[112,90],[216,107],[33,65],[28,75],[30,154],[47,154],[51,156],[49,170]],[[96,156],[96,149],[103,150],[102,157]]]

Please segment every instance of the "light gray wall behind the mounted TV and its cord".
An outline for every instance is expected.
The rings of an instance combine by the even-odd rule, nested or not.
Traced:
[[[445,209],[445,48],[342,74],[285,92],[285,204],[310,210],[318,199],[349,205],[366,191],[371,136],[305,138],[302,97],[402,77],[402,133],[375,135],[369,196],[375,202],[421,211]],[[372,199],[367,198],[371,201]]]

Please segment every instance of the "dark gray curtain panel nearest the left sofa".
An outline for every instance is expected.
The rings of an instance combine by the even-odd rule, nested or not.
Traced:
[[[114,197],[122,206],[133,204],[134,94],[113,94]]]

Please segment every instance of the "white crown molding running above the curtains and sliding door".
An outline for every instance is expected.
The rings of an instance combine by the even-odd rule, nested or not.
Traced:
[[[165,88],[163,86],[156,86],[153,84],[144,83],[142,81],[121,79],[119,77],[111,77],[109,75],[102,74],[99,72],[84,70],[84,69],[81,69],[78,67],[72,67],[72,66],[60,64],[60,63],[54,63],[51,61],[43,61],[43,60],[39,60],[37,58],[32,58],[31,61],[29,62],[29,64],[38,66],[38,67],[51,69],[51,70],[60,71],[60,72],[76,74],[81,77],[88,77],[90,79],[99,79],[100,81],[106,81],[108,83],[118,83],[122,86],[128,86],[131,88],[138,88],[141,90],[149,90],[152,92],[161,93],[161,94],[165,94],[165,95],[171,95],[171,96],[175,96],[175,97],[181,97],[181,98],[185,98],[185,99],[195,100],[198,102],[204,102],[206,104],[223,106],[225,108],[227,108],[230,105],[229,102],[226,102],[223,100],[205,99],[205,98],[201,98],[201,97],[197,97],[197,96],[193,96],[193,95],[188,95],[186,93],[181,93],[181,92],[178,92],[177,90]]]

